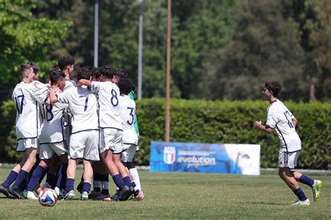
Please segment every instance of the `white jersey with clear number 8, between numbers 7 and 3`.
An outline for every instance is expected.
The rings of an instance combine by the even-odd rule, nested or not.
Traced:
[[[111,81],[92,81],[91,91],[98,93],[99,126],[122,131],[122,122],[119,116],[119,88],[117,85]]]

